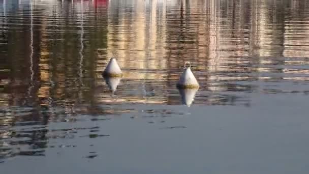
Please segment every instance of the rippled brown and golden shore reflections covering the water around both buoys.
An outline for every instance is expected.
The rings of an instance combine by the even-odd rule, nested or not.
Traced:
[[[0,160],[75,146],[53,139],[109,135],[49,124],[121,115],[164,123],[187,113],[145,107],[190,106],[194,96],[197,106],[251,106],[256,94],[309,94],[305,0],[0,4]],[[121,82],[101,76],[111,56]],[[175,88],[185,61],[200,83],[189,98]]]

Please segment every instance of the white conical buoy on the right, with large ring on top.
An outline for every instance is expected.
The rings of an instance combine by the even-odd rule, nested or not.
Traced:
[[[178,89],[198,89],[199,88],[199,83],[197,82],[196,78],[194,77],[191,71],[190,62],[184,63],[184,70],[177,83],[177,88]]]

